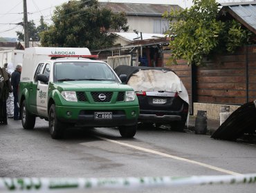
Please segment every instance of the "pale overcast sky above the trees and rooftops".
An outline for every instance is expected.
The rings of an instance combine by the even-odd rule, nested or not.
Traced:
[[[3,1],[3,0],[2,0]],[[192,6],[192,0],[100,0],[122,3],[161,3],[178,4],[182,8]],[[230,0],[220,0],[230,1]],[[34,20],[36,26],[39,25],[41,16],[44,16],[46,23],[51,23],[51,15],[55,6],[60,6],[68,0],[27,0],[28,21]],[[232,2],[232,1],[231,1]],[[0,6],[0,37],[17,37],[16,31],[23,32],[23,27],[15,23],[22,22],[23,0],[6,0]]]

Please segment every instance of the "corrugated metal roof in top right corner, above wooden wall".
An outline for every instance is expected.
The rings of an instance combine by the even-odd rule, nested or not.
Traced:
[[[220,3],[222,14],[228,12],[246,28],[256,34],[256,1],[242,3]]]

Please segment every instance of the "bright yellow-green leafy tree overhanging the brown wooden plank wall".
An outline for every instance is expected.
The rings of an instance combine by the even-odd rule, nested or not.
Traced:
[[[194,6],[185,10],[165,12],[170,20],[169,34],[172,59],[186,59],[188,64],[200,65],[203,57],[218,52],[234,52],[248,42],[251,33],[235,20],[217,20],[215,0],[193,0]],[[176,21],[172,22],[176,18]]]

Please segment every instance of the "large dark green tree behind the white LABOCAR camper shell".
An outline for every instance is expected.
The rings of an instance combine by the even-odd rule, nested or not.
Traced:
[[[53,25],[41,34],[43,46],[108,48],[116,36],[109,30],[127,31],[124,13],[100,8],[97,0],[68,1],[53,14]]]

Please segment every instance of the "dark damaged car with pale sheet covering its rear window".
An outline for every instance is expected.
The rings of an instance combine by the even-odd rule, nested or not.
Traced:
[[[119,65],[116,74],[127,74],[140,105],[140,123],[168,124],[182,131],[187,123],[189,98],[181,79],[168,68]]]

